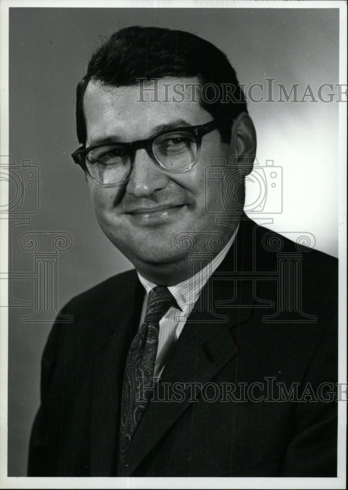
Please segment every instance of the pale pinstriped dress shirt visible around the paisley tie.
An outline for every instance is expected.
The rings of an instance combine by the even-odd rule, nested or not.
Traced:
[[[197,272],[195,275],[189,277],[175,286],[168,286],[169,291],[173,294],[178,306],[181,309],[171,307],[167,313],[160,320],[160,330],[158,339],[158,350],[156,363],[154,368],[154,377],[161,377],[165,361],[168,358],[170,351],[172,350],[175,342],[178,340],[181,334],[186,320],[191,313],[202,288],[207,283],[211,274],[219,267],[221,262],[224,260],[227,252],[229,251],[232,243],[234,242],[235,236],[238,232],[239,224],[229,242],[225,247],[209,262],[209,264]],[[139,280],[146,290],[144,302],[142,305],[142,312],[140,317],[140,325],[144,321],[147,298],[149,292],[155,288],[157,285],[148,281],[142,277],[138,272]]]

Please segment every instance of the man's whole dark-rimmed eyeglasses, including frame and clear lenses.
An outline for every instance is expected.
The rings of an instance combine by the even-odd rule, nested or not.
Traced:
[[[146,140],[80,147],[71,156],[97,184],[111,187],[129,179],[136,151],[140,148],[144,148],[164,172],[188,171],[199,158],[202,137],[216,128],[217,121],[213,120],[199,126],[161,131]]]

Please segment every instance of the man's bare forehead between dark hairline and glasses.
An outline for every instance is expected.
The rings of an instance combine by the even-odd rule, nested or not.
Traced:
[[[88,144],[104,136],[123,141],[148,138],[161,125],[178,120],[196,125],[212,119],[199,104],[196,77],[165,77],[120,87],[91,81],[84,96],[84,113]]]

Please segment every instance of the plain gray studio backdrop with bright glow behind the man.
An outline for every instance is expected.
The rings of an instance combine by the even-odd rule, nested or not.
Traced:
[[[76,84],[101,39],[127,25],[178,28],[208,39],[248,86],[265,85],[266,77],[288,90],[297,83],[301,99],[308,83],[318,98],[321,84],[338,82],[337,9],[10,9],[10,154],[17,169],[12,177],[25,195],[19,201],[10,194],[9,476],[25,475],[40,357],[55,312],[132,267],[99,230],[83,173],[70,158],[78,147]],[[309,232],[316,248],[336,256],[338,106],[310,97],[249,103],[259,164],[274,160],[283,173],[282,212],[267,215],[268,226],[290,237]]]

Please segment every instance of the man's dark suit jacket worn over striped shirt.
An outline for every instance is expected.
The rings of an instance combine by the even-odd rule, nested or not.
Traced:
[[[336,476],[336,262],[241,222],[166,362],[158,388],[172,401],[147,405],[126,475]],[[73,322],[53,326],[43,354],[29,476],[116,475],[143,294],[131,270],[64,308]]]

